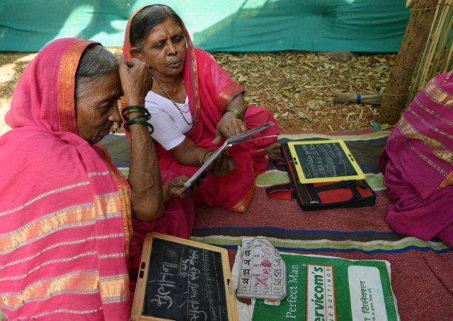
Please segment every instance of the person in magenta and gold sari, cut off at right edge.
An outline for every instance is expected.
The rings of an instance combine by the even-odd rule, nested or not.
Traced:
[[[433,78],[391,132],[379,159],[396,232],[453,247],[453,73]]]

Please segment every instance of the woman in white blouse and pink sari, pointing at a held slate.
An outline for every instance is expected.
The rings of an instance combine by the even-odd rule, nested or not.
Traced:
[[[142,59],[153,70],[154,86],[145,105],[156,128],[162,169],[190,177],[225,138],[275,123],[255,136],[261,139],[229,148],[193,196],[195,203],[246,211],[256,175],[280,152],[273,115],[246,104],[243,88],[210,54],[193,47],[183,21],[168,6],[145,6],[130,17],[123,55]]]

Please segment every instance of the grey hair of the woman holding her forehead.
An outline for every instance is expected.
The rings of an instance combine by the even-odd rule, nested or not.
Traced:
[[[76,100],[89,93],[95,81],[118,71],[115,55],[99,44],[89,45],[82,54],[76,71]]]

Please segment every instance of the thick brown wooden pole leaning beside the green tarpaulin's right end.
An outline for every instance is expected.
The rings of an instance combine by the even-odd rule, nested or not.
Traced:
[[[389,74],[389,82],[382,94],[382,103],[377,122],[396,124],[406,108],[408,90],[425,41],[430,33],[432,19],[439,0],[415,0],[411,2],[411,16],[406,33]]]

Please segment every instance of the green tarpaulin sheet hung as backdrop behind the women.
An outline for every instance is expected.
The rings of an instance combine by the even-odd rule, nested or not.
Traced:
[[[397,52],[410,15],[401,0],[1,0],[0,51],[35,52],[59,37],[121,46],[137,8],[164,3],[210,51]]]

